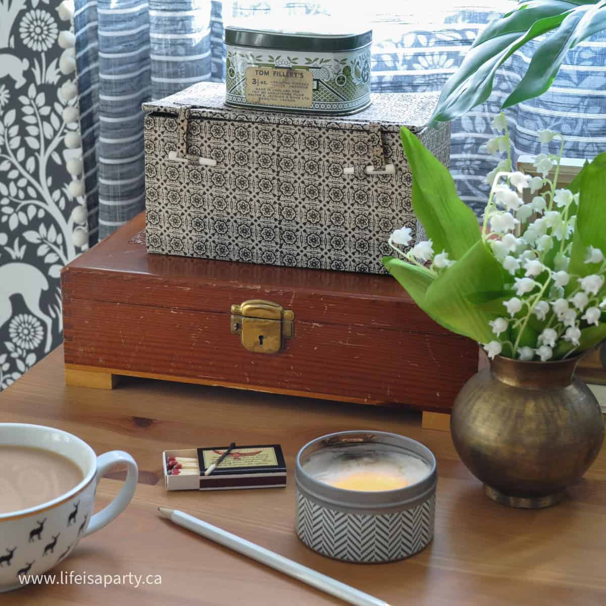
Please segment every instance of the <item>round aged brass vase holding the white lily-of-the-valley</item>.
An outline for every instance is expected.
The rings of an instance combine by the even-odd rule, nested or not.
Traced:
[[[604,441],[604,419],[574,368],[581,356],[522,362],[497,356],[454,401],[454,446],[488,497],[548,507],[578,482]]]

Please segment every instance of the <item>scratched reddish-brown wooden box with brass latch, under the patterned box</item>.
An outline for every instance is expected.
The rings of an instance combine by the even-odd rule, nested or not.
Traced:
[[[68,384],[132,375],[449,411],[478,368],[477,345],[391,276],[148,254],[144,223],[142,213],[62,270]],[[251,299],[291,311],[278,353],[263,353],[268,338],[242,345],[247,320],[232,305]]]

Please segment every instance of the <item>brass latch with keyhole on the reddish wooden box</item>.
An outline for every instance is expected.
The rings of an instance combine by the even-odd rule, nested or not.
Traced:
[[[252,299],[231,305],[231,332],[255,353],[278,353],[282,339],[295,336],[295,313],[272,301]]]

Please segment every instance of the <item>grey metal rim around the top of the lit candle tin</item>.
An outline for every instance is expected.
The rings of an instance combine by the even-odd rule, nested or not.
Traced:
[[[358,491],[336,488],[324,484],[305,471],[305,463],[325,448],[355,450],[360,447],[377,447],[401,452],[421,459],[427,465],[427,475],[415,484],[386,491]],[[347,452],[345,456],[350,456]],[[356,513],[388,513],[402,508],[415,507],[430,498],[438,482],[436,458],[429,448],[411,438],[385,431],[339,431],[306,444],[296,458],[295,482],[302,493],[318,504],[341,511]]]

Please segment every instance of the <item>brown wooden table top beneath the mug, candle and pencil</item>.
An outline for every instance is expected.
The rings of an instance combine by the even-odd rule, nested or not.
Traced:
[[[342,604],[336,598],[206,541],[164,519],[158,505],[211,524],[333,576],[393,605],[606,604],[606,453],[546,510],[514,510],[485,498],[450,434],[421,428],[418,413],[218,387],[126,378],[116,390],[66,387],[62,348],[0,394],[0,421],[52,425],[97,451],[130,452],[141,469],[127,510],[82,540],[55,568],[87,574],[161,574],[161,585],[46,585],[4,594],[2,605],[150,606]],[[394,431],[438,459],[435,539],[392,564],[345,564],[305,547],[294,531],[293,468],[299,448],[331,431]],[[282,444],[287,488],[167,493],[161,453],[210,444]],[[99,485],[96,507],[121,488]]]

